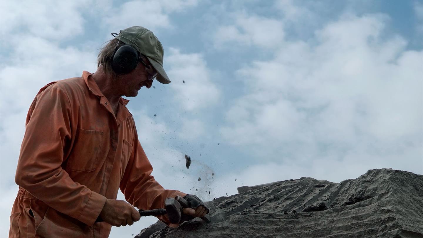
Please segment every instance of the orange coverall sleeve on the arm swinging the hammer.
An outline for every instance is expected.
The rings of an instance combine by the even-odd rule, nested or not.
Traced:
[[[69,97],[58,86],[40,90],[28,112],[15,181],[49,207],[91,226],[106,198],[75,183],[61,167],[71,118]]]

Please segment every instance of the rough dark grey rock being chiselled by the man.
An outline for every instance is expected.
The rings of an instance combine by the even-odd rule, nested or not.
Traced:
[[[423,238],[423,175],[393,169],[341,183],[286,180],[207,205],[210,224],[194,219],[137,237]]]

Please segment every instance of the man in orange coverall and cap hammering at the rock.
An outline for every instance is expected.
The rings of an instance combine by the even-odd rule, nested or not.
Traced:
[[[163,69],[163,47],[154,34],[134,26],[114,33],[99,53],[98,70],[44,86],[26,120],[15,181],[9,238],[108,237],[111,226],[140,219],[133,207],[163,208],[167,197],[185,197],[184,214],[209,210],[194,195],[165,190],[138,141],[126,108],[138,90],[157,78],[170,83]],[[121,189],[129,203],[116,200]],[[166,216],[158,219],[170,224]],[[96,222],[104,221],[104,222]]]

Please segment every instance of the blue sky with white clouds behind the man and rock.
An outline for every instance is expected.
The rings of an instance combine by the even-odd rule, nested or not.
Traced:
[[[423,174],[422,0],[0,0],[1,237],[36,93],[95,72],[110,33],[134,25],[162,42],[172,81],[127,105],[163,187],[210,201],[300,177]]]

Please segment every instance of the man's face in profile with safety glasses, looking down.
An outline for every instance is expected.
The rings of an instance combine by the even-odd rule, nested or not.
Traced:
[[[151,68],[153,67],[146,59],[144,63]],[[151,87],[154,80],[148,79],[148,72],[145,68],[146,66],[144,66],[144,64],[138,63],[137,67],[132,72],[122,76],[122,95],[126,97],[135,97],[143,86],[146,86],[147,89]],[[152,69],[154,70],[154,68]]]

